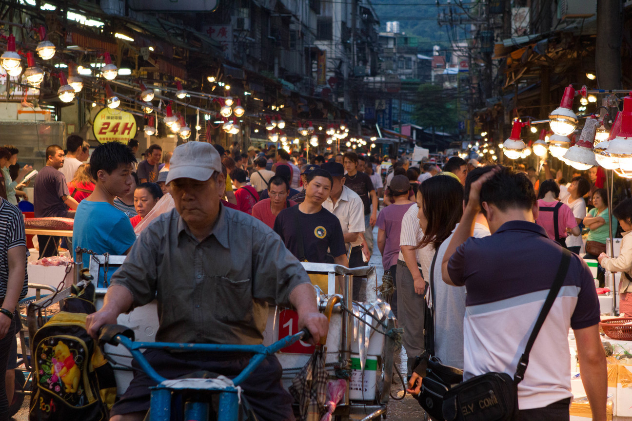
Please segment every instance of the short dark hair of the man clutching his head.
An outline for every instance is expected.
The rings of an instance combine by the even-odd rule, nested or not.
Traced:
[[[509,208],[530,210],[537,203],[537,199],[533,184],[526,174],[499,166],[496,174],[483,184],[480,202],[487,202],[501,211]],[[485,208],[482,208],[482,213],[487,216]]]

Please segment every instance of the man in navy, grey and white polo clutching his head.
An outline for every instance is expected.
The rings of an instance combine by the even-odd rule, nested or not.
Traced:
[[[492,235],[477,239],[472,234],[479,211]],[[444,282],[467,288],[464,380],[486,372],[516,372],[562,259],[562,247],[533,222],[537,215],[535,191],[526,174],[497,167],[471,184],[461,223],[442,259]],[[593,277],[573,254],[518,384],[518,419],[568,420],[573,398],[569,328],[593,420],[606,419],[607,371],[599,321]]]

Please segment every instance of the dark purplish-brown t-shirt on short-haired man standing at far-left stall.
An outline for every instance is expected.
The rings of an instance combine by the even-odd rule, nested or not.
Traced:
[[[50,165],[37,173],[33,196],[35,218],[68,216],[68,206],[62,199],[63,196],[70,196],[66,177]]]

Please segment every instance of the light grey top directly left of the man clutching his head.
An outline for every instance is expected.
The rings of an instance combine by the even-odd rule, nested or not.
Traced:
[[[458,227],[459,224],[456,224]],[[454,230],[456,230],[454,227]],[[453,287],[441,278],[441,261],[454,235],[451,234],[439,246],[434,268],[434,319],[435,355],[443,364],[463,369],[463,319],[465,318],[465,287]],[[490,235],[484,225],[474,226],[474,237]],[[429,280],[428,280],[429,281]]]

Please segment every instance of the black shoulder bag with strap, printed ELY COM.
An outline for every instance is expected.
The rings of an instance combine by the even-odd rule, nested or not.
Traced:
[[[562,261],[557,269],[549,295],[542,305],[525,352],[520,357],[516,374],[489,372],[458,384],[447,391],[443,401],[443,419],[446,421],[511,421],[518,415],[518,383],[525,377],[529,364],[529,353],[544,320],[559,293],[568,266],[571,252],[562,249]]]

